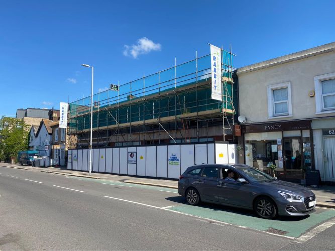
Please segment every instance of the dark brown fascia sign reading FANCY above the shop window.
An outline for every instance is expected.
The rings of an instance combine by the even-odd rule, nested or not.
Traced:
[[[245,134],[291,131],[291,130],[308,130],[308,129],[310,129],[310,120],[269,123],[269,124],[252,124],[250,126],[242,127],[243,133]]]

